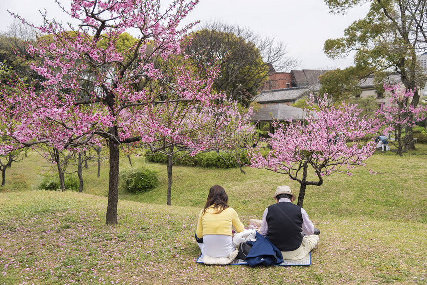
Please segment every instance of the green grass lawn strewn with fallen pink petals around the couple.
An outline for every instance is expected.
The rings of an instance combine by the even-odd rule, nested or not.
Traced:
[[[225,187],[244,224],[261,218],[284,175],[245,168],[174,167],[166,206],[166,166],[147,193],[119,193],[119,225],[106,226],[108,164],[85,170],[85,193],[34,191],[49,171],[35,153],[7,171],[0,188],[0,284],[427,284],[427,145],[399,157],[375,153],[353,176],[334,174],[307,188],[304,208],[320,243],[309,267],[204,266],[193,235],[213,184]],[[121,160],[121,169],[129,167]],[[135,166],[134,166],[135,167]]]

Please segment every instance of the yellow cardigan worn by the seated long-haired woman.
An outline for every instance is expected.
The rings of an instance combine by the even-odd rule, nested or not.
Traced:
[[[245,229],[236,210],[231,207],[228,207],[221,213],[217,213],[214,206],[211,206],[206,209],[205,214],[202,215],[202,212],[203,210],[200,211],[199,220],[197,222],[196,235],[198,238],[202,238],[206,234],[233,236],[231,225],[234,225],[237,232],[241,232]]]

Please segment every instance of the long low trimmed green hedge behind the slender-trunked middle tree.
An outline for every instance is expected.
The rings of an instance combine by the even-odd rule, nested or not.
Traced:
[[[267,153],[268,153],[268,149],[265,151],[265,154]],[[146,155],[146,160],[149,162],[166,164],[167,156],[160,152],[156,152],[154,154]],[[240,154],[240,163],[243,165],[250,165],[250,161],[247,157],[246,150]],[[199,166],[204,168],[222,168],[222,169],[235,168],[239,166],[236,158],[231,153],[224,152],[224,151],[203,152],[203,153],[198,153],[195,156],[187,155],[182,159],[176,161],[175,165]]]

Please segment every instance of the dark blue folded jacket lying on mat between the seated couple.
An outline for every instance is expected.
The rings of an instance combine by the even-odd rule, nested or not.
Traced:
[[[245,258],[250,266],[273,265],[282,263],[283,257],[280,250],[271,243],[268,237],[264,237],[257,232],[256,241],[247,241],[252,245],[251,250]]]

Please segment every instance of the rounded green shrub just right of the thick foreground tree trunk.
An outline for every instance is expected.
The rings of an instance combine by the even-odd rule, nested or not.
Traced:
[[[123,188],[131,193],[146,192],[158,185],[157,173],[147,168],[130,168],[120,173]]]

